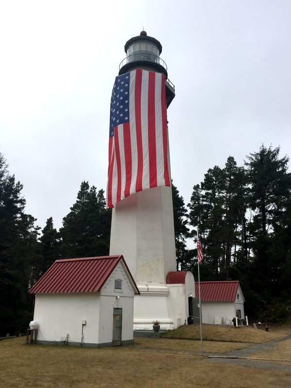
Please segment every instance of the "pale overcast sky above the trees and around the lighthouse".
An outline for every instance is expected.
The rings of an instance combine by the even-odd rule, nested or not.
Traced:
[[[185,204],[230,155],[291,155],[290,0],[1,2],[0,152],[41,228],[62,226],[82,180],[106,190],[113,82],[143,29],[176,87],[171,170]]]

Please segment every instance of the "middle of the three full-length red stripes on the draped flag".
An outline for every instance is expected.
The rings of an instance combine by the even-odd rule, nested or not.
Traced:
[[[157,149],[156,149],[156,101],[155,101],[156,74],[148,74],[148,162],[149,162],[149,187],[157,187]]]

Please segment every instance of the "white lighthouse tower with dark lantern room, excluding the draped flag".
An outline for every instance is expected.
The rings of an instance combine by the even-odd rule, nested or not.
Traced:
[[[142,31],[125,44],[127,57],[119,76],[134,69],[165,76],[166,107],[175,97],[166,64],[160,58],[161,43]],[[169,152],[168,170],[170,175]],[[171,179],[171,177],[170,177]],[[153,187],[131,194],[114,204],[110,255],[122,254],[141,292],[134,299],[134,329],[173,329],[192,315],[194,277],[177,272],[171,187]]]

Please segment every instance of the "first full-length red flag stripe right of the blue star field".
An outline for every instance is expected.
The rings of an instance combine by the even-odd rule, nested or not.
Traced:
[[[136,143],[137,143],[137,176],[135,183],[135,191],[143,190],[143,172],[144,172],[144,152],[142,140],[142,117],[141,117],[141,93],[142,93],[142,75],[141,69],[135,71],[135,127],[136,127]]]

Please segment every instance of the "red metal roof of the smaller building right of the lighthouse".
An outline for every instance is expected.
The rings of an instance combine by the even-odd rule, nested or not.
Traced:
[[[222,282],[200,282],[202,302],[234,302],[239,287],[238,280]],[[199,297],[198,282],[195,282],[195,296]]]

